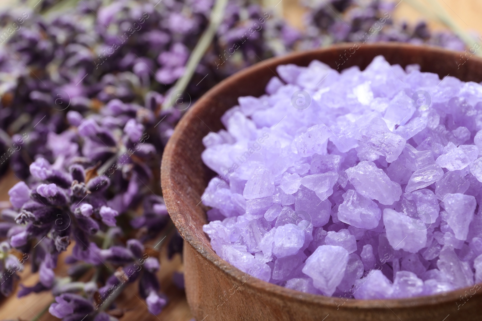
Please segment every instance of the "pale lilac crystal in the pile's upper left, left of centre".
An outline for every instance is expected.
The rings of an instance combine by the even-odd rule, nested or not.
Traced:
[[[293,141],[293,152],[302,157],[313,154],[325,154],[325,142],[330,138],[332,130],[326,125],[315,125],[308,128],[306,133],[296,137]]]

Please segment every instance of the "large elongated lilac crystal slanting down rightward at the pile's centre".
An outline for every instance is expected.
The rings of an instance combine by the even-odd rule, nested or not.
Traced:
[[[400,184],[392,182],[373,162],[362,161],[346,172],[356,191],[366,198],[375,199],[384,205],[391,205],[400,199]]]

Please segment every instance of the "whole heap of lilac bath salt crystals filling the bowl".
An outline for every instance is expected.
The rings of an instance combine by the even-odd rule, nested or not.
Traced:
[[[277,71],[282,81],[240,97],[227,130],[203,139],[219,174],[202,195],[216,253],[328,296],[481,282],[482,86],[381,56],[364,71],[319,61]]]

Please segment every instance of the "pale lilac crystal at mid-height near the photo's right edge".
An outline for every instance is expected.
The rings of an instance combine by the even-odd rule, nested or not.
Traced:
[[[440,167],[445,167],[450,171],[460,170],[476,160],[478,155],[479,149],[477,146],[460,145],[456,147],[454,143],[449,142],[436,162]]]

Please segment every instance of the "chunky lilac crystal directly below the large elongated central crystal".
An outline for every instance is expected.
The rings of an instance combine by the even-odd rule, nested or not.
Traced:
[[[351,226],[374,229],[382,216],[382,211],[374,201],[355,190],[343,194],[343,203],[338,206],[338,219]]]

